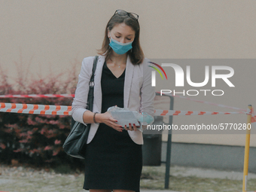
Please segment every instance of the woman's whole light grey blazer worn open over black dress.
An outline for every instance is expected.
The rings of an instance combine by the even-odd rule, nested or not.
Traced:
[[[93,69],[94,56],[84,58],[81,66],[81,72],[78,76],[78,85],[75,90],[75,98],[72,103],[72,117],[74,120],[84,123],[83,114],[87,111],[87,96],[89,91],[90,76]],[[130,62],[130,57],[126,60],[126,72],[123,88],[123,106],[130,108],[132,111],[147,112],[154,116],[154,87],[151,86],[151,63],[149,59],[144,59],[140,65],[134,66]],[[105,56],[99,56],[98,64],[95,72],[94,101],[93,112],[101,113],[102,108],[102,67],[105,62]],[[86,124],[86,123],[84,123]],[[93,140],[93,136],[99,125],[92,123],[87,143]],[[143,144],[143,136],[140,131],[128,131],[131,139],[136,144]]]

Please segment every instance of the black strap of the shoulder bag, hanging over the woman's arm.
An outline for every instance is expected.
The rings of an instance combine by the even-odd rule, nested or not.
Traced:
[[[90,77],[90,82],[89,82],[89,93],[88,93],[88,98],[87,98],[87,109],[90,111],[93,111],[93,91],[94,91],[94,74],[96,71],[96,66],[98,62],[99,56],[95,56],[93,60],[93,72],[92,76]]]

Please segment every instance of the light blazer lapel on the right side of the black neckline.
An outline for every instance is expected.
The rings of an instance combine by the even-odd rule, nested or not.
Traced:
[[[130,57],[127,56],[126,72],[125,72],[124,88],[123,88],[123,107],[125,108],[128,108],[128,104],[129,104],[130,89],[131,89],[131,84],[133,79],[133,70],[134,70],[133,63],[130,61]]]

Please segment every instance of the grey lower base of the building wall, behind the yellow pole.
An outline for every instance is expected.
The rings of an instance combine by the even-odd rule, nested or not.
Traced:
[[[242,172],[244,155],[245,148],[241,146],[172,142],[171,165]],[[250,148],[248,172],[256,172],[255,158],[256,148]],[[166,162],[166,142],[162,144],[161,160]]]

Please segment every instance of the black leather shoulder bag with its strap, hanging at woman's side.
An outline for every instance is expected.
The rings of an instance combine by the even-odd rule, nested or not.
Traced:
[[[94,90],[94,73],[96,70],[99,56],[95,56],[93,61],[93,73],[90,77],[89,93],[87,98],[87,109],[93,111],[93,90]],[[75,122],[66,141],[63,144],[64,151],[72,157],[84,159],[86,153],[87,139],[90,132],[90,124]]]

